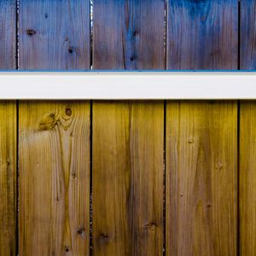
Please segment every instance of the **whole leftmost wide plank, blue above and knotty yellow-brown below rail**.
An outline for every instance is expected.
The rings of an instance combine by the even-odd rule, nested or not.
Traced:
[[[20,69],[90,68],[89,0],[21,0],[19,31]],[[22,102],[19,159],[20,255],[88,255],[90,102]]]

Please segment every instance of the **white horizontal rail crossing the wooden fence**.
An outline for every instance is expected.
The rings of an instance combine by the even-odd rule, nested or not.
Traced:
[[[256,99],[256,73],[2,72],[0,99]]]

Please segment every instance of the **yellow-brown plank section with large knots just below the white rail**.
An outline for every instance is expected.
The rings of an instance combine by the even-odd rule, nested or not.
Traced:
[[[20,103],[20,255],[89,255],[90,105]]]

